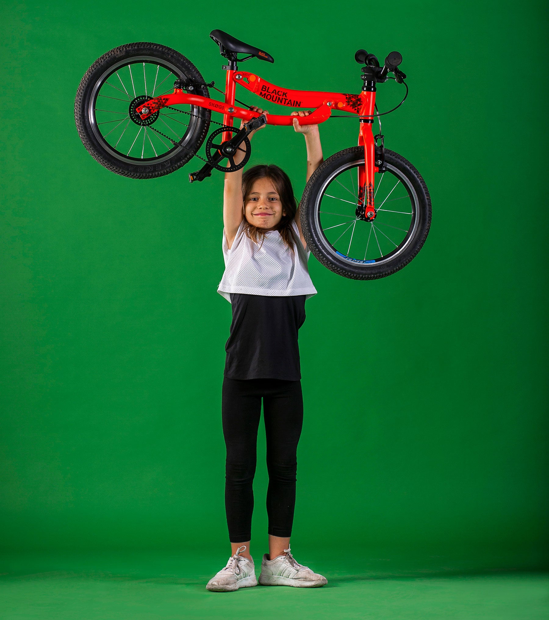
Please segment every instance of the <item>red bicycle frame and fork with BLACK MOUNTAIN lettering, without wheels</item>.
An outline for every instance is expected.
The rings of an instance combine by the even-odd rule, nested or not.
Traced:
[[[275,84],[267,82],[255,73],[240,71],[239,69],[228,69],[225,82],[225,102],[202,97],[201,95],[189,94],[181,88],[176,88],[171,94],[154,97],[139,105],[136,108],[136,112],[142,119],[145,119],[167,105],[196,105],[223,114],[223,123],[228,126],[233,126],[234,118],[242,118],[248,121],[259,117],[259,112],[252,112],[252,110],[234,105],[236,84],[275,104],[292,108],[314,108],[314,112],[306,117],[268,114],[268,125],[292,125],[294,118],[297,118],[300,125],[318,125],[328,120],[333,110],[350,112],[359,116],[359,146],[364,146],[365,165],[359,167],[358,206],[360,209],[365,206],[365,215],[368,218],[375,216],[373,188],[374,175],[375,172],[378,172],[375,166],[375,141],[372,132],[375,89],[363,90],[359,95],[341,92],[295,91],[275,86]],[[230,139],[230,134],[226,132],[223,135],[223,141],[228,139]]]

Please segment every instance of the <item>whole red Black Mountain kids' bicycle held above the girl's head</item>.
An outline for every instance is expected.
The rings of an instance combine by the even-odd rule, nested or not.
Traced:
[[[249,133],[265,123],[301,125],[346,116],[359,121],[359,145],[339,151],[315,171],[301,198],[303,234],[315,257],[333,272],[355,280],[373,280],[407,265],[423,246],[431,225],[431,198],[421,175],[398,153],[373,135],[374,119],[393,112],[408,95],[402,56],[391,52],[383,66],[376,56],[359,50],[363,64],[359,94],[297,91],[275,86],[256,73],[238,68],[249,58],[274,62],[272,56],[213,30],[227,60],[223,101],[210,99],[200,71],[185,56],[156,43],[130,43],[108,51],[84,75],[74,113],[86,149],[102,166],[132,179],[153,179],[174,172],[197,153],[205,141],[213,112],[223,122],[206,140],[202,169],[189,175],[200,181],[213,169],[232,172],[251,154]],[[244,55],[243,57],[238,57]],[[389,76],[392,73],[393,76]],[[406,86],[393,110],[379,113],[376,85],[395,79]],[[236,86],[291,108],[314,108],[306,117],[260,115],[236,99]],[[218,90],[218,89],[215,89]],[[246,107],[238,107],[238,102]],[[343,112],[339,115],[334,112]],[[242,129],[233,119],[246,121]],[[243,161],[234,153],[246,144]],[[395,203],[393,205],[393,203]]]

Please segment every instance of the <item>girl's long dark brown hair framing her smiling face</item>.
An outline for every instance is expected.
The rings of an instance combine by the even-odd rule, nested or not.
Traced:
[[[242,175],[242,196],[244,205],[246,204],[246,198],[252,190],[252,185],[257,179],[269,179],[272,181],[275,190],[277,190],[282,208],[286,215],[282,216],[275,230],[280,232],[283,242],[293,250],[293,237],[292,237],[292,220],[295,218],[297,212],[297,200],[293,195],[292,181],[290,177],[275,164],[258,164],[252,166]],[[265,232],[261,228],[257,228],[253,224],[250,224],[244,215],[244,232],[255,243],[263,242],[265,238]],[[260,244],[261,245],[261,244]]]

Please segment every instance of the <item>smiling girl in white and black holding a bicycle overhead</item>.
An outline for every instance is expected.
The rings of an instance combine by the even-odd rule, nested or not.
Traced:
[[[293,127],[305,136],[308,180],[323,161],[318,125],[300,126],[296,118]],[[239,153],[235,160],[242,158]],[[278,166],[225,174],[225,273],[218,293],[230,301],[233,311],[221,405],[227,449],[225,508],[233,556],[208,582],[207,589],[216,592],[257,585],[250,538],[262,399],[269,554],[263,556],[259,583],[298,588],[327,583],[290,552],[296,451],[303,423],[298,330],[305,321],[305,299],[316,294],[296,206],[290,179]]]

